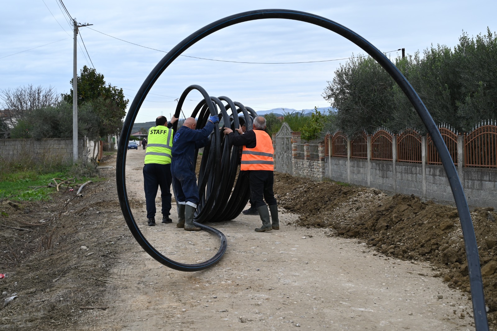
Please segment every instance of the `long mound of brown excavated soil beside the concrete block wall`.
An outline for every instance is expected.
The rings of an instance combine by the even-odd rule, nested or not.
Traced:
[[[452,288],[470,292],[468,264],[455,207],[414,195],[389,196],[375,188],[315,182],[275,173],[281,207],[300,214],[296,225],[330,229],[330,236],[358,238],[387,256],[426,260]],[[476,208],[473,226],[480,252],[491,325],[497,325],[497,214]]]

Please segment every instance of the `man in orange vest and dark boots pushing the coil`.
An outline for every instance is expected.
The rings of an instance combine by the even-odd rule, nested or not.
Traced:
[[[279,230],[278,205],[273,193],[273,143],[271,137],[264,131],[266,128],[266,119],[264,117],[255,117],[252,127],[253,130],[245,133],[243,133],[241,127],[236,129],[239,133],[243,133],[238,136],[235,136],[232,129],[225,128],[224,134],[228,135],[232,145],[243,146],[240,170],[250,171],[250,198],[255,208],[257,208],[262,221],[262,226],[255,229],[255,231]],[[267,205],[262,198],[264,198]],[[269,219],[269,212],[271,212],[272,224]]]

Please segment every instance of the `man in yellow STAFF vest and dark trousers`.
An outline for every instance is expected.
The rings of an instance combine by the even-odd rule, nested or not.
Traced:
[[[172,123],[178,119],[172,116],[167,123],[165,116],[156,119],[156,126],[149,129],[147,151],[145,152],[145,165],[143,166],[143,179],[145,201],[147,204],[147,219],[149,227],[156,225],[155,199],[157,190],[161,187],[162,223],[172,223],[169,218],[171,210],[171,149],[174,132]]]

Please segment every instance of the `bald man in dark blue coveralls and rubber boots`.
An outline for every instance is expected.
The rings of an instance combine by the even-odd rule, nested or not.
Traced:
[[[193,117],[185,119],[174,135],[172,145],[172,187],[176,194],[178,207],[178,224],[176,227],[186,231],[200,231],[193,225],[193,216],[200,199],[198,196],[197,177],[195,175],[195,149],[209,144],[209,135],[214,129],[214,123],[219,122],[218,116],[210,116],[202,130],[195,130],[197,121]]]

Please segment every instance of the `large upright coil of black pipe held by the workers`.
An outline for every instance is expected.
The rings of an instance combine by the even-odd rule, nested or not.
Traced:
[[[234,102],[226,96],[209,96],[201,86],[190,85],[181,94],[174,117],[179,118],[186,96],[194,89],[204,97],[191,113],[191,117],[197,118],[196,129],[202,129],[209,116],[220,116],[219,125],[216,124],[216,128],[209,136],[210,144],[202,153],[198,176],[200,203],[194,221],[204,223],[232,220],[244,209],[250,191],[248,175],[245,171],[238,171],[240,147],[230,146],[228,136],[224,135],[223,129],[238,128],[240,125],[238,117],[243,115],[247,130],[251,130],[252,120],[257,114],[252,108],[240,102]],[[174,131],[177,130],[177,123],[174,123]],[[239,134],[237,131],[234,133]],[[195,163],[197,156],[198,150],[195,151]]]

